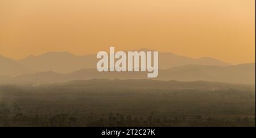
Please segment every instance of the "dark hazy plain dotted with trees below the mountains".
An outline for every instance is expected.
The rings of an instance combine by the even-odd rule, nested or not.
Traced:
[[[150,80],[1,85],[0,126],[255,127],[255,86]]]

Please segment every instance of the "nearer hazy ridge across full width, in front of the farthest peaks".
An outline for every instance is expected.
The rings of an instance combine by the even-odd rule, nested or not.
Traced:
[[[1,77],[1,76],[0,76]],[[0,79],[0,83],[61,83],[89,79],[146,79],[147,72],[98,72],[82,69],[71,74],[40,72],[18,77]],[[255,63],[235,66],[186,65],[159,70],[155,80],[218,81],[223,83],[255,84]]]

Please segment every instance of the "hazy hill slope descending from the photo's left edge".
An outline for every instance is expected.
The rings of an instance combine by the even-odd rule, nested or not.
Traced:
[[[26,67],[23,67],[16,61],[10,58],[5,58],[0,55],[0,75],[16,76],[29,73]]]

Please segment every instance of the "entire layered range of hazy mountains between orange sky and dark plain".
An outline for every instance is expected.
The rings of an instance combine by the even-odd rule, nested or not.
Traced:
[[[141,49],[138,51],[152,51]],[[0,56],[0,83],[62,83],[89,79],[145,79],[147,72],[98,72],[96,55],[48,52],[15,61]],[[255,63],[231,65],[214,58],[159,53],[155,80],[255,84]]]

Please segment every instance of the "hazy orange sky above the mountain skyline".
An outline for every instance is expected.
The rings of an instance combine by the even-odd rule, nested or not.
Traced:
[[[255,62],[255,0],[0,0],[0,54],[148,48]]]

